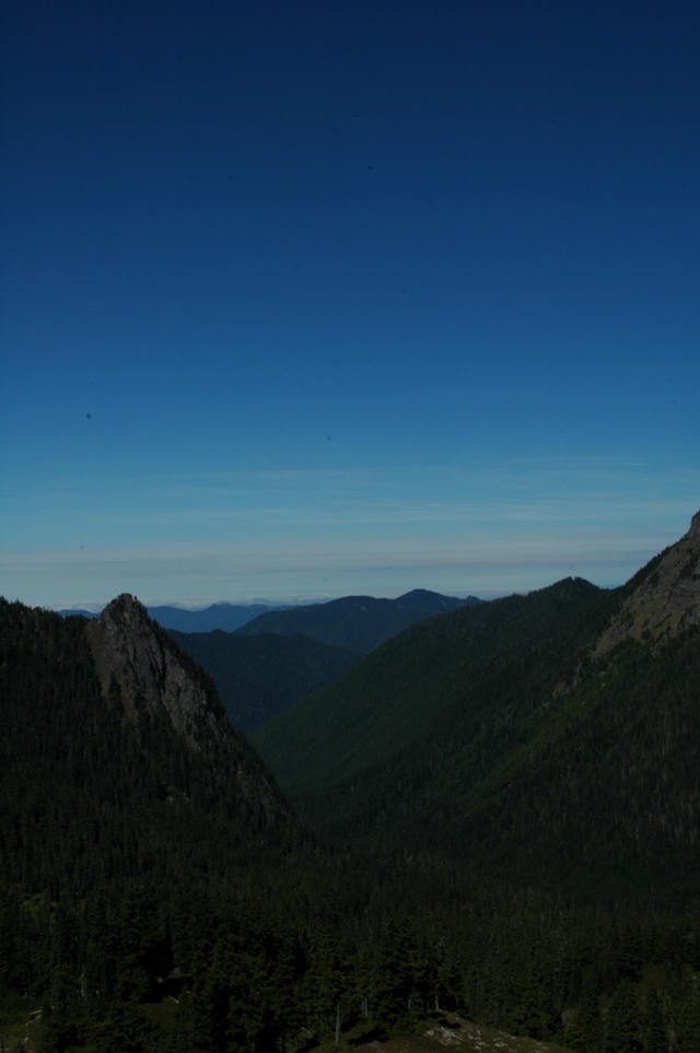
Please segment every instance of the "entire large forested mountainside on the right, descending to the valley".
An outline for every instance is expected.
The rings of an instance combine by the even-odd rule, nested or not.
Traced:
[[[698,533],[622,589],[569,578],[413,625],[253,741],[329,836],[592,894],[700,892]],[[682,623],[653,589],[686,597]],[[638,609],[667,632],[602,647]]]

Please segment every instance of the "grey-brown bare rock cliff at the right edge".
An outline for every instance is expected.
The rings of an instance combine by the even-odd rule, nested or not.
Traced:
[[[662,642],[700,624],[700,512],[688,533],[626,600],[603,633],[595,655],[605,655],[628,636]]]

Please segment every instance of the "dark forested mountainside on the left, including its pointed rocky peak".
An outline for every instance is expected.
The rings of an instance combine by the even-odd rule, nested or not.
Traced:
[[[303,841],[212,682],[131,597],[92,621],[4,600],[1,615],[3,873],[26,894]]]

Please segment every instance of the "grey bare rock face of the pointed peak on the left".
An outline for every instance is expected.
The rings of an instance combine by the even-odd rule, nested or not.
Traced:
[[[187,675],[153,630],[143,607],[124,594],[85,625],[105,698],[119,689],[127,716],[165,710],[175,730],[194,749],[222,740],[228,730],[212,710],[203,688]]]

